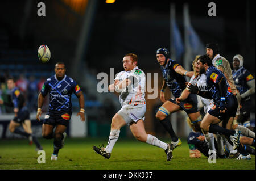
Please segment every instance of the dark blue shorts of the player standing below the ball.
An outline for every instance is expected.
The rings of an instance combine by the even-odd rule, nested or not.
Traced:
[[[48,112],[44,117],[43,123],[53,125],[53,126],[56,126],[57,124],[61,124],[67,127],[71,119],[71,116],[72,116],[71,111]]]

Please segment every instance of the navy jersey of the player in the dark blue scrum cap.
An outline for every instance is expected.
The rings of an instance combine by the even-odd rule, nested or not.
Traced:
[[[185,82],[187,82],[184,76],[176,73],[175,71],[179,65],[180,64],[177,64],[176,61],[170,59],[167,62],[165,68],[161,66],[164,81],[166,82],[166,85],[169,87],[172,95],[174,95],[175,98],[179,98],[181,92],[186,87]]]

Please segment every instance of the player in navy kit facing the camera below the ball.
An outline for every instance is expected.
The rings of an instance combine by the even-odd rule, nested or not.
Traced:
[[[66,68],[63,62],[57,62],[55,65],[55,75],[48,78],[38,95],[38,112],[36,119],[40,121],[42,114],[41,108],[44,98],[49,92],[49,110],[43,120],[42,136],[46,139],[54,138],[54,150],[51,160],[57,160],[59,150],[63,148],[67,133],[65,130],[69,124],[72,115],[71,95],[74,93],[79,99],[81,121],[85,121],[84,116],[84,95],[77,85],[76,81],[65,75]],[[53,133],[53,128],[55,128]]]

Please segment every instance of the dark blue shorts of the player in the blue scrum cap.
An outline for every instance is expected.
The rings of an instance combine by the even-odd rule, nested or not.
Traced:
[[[176,103],[176,98],[169,99],[170,102]],[[180,110],[184,110],[187,114],[198,112],[197,108],[197,97],[196,94],[189,94],[188,98],[181,101],[180,104],[177,104],[180,106]]]

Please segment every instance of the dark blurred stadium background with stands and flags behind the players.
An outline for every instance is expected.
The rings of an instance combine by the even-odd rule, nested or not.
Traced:
[[[38,16],[39,2],[45,3],[46,16]],[[37,96],[46,78],[54,74],[55,63],[63,61],[67,75],[79,83],[85,95],[85,123],[76,117],[79,103],[73,95],[69,137],[107,139],[111,119],[120,106],[117,95],[97,92],[97,74],[109,75],[110,68],[115,68],[115,73],[122,71],[127,53],[138,55],[139,68],[145,73],[159,73],[158,87],[154,87],[158,92],[163,80],[155,58],[159,47],[171,50],[171,58],[191,70],[195,54],[202,53],[202,46],[204,53],[204,45],[213,41],[230,64],[235,54],[241,54],[245,68],[255,77],[255,1],[214,2],[216,16],[208,15],[208,1],[1,1],[0,96],[8,101],[5,79],[15,77],[27,98],[32,129],[42,137],[41,124],[35,120]],[[51,50],[47,64],[38,61],[42,44]],[[253,100],[251,122],[255,124],[255,95]],[[168,138],[154,116],[161,105],[159,98],[146,101],[146,131]],[[44,113],[47,108],[46,103]],[[19,138],[7,129],[12,112],[10,107],[0,107],[2,139]],[[178,136],[185,138],[189,127],[184,113],[175,113],[171,121]],[[121,137],[132,137],[128,127],[121,129]]]

